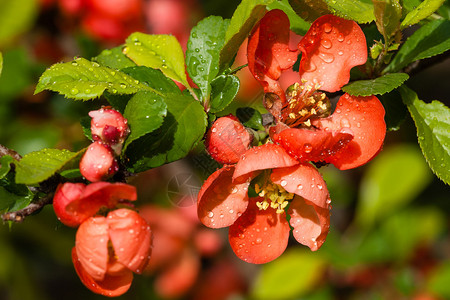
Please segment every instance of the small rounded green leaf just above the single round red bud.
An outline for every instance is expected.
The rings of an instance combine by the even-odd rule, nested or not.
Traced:
[[[211,82],[211,102],[209,112],[217,113],[225,109],[239,91],[239,79],[234,75],[221,75]]]

